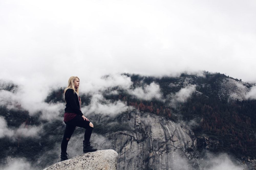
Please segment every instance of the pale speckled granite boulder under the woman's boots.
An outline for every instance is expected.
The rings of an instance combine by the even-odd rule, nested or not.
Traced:
[[[58,162],[44,170],[116,170],[118,153],[112,149],[88,152]]]

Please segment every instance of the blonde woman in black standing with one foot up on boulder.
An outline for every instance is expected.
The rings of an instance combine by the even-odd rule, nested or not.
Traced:
[[[79,78],[72,76],[68,80],[68,87],[64,90],[66,108],[64,114],[64,122],[66,124],[65,132],[61,142],[61,160],[68,159],[67,146],[76,126],[85,128],[83,152],[94,152],[97,148],[93,148],[90,144],[90,137],[93,130],[93,124],[81,112],[81,99],[79,97]]]

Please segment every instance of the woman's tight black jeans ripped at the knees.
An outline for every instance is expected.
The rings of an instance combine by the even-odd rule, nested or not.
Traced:
[[[61,152],[67,152],[68,141],[70,140],[76,126],[85,128],[84,140],[90,140],[93,127],[91,127],[89,123],[89,121],[83,120],[80,115],[77,115],[72,120],[65,122],[66,128],[61,142]]]

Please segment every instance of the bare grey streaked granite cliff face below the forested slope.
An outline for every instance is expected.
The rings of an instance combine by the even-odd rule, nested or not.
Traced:
[[[131,130],[107,133],[109,140],[100,144],[100,148],[111,147],[119,153],[117,169],[172,169],[180,158],[195,168],[199,166],[190,129],[139,111],[124,113],[117,121]]]

